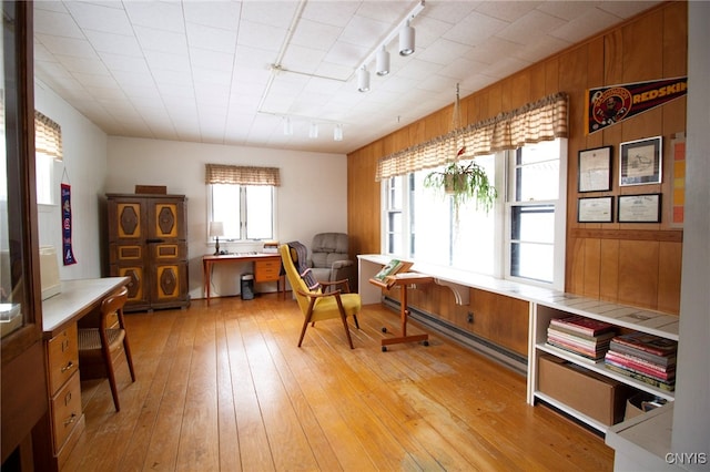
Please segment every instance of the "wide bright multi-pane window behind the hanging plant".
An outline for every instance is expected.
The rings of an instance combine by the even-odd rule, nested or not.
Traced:
[[[432,170],[383,179],[383,253],[564,287],[566,155],[556,140],[477,156],[498,198],[488,213],[466,203],[458,220],[450,197],[423,186]]]

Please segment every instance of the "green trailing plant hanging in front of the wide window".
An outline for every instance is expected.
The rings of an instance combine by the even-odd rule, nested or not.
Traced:
[[[462,154],[463,152],[459,152]],[[486,171],[474,161],[462,163],[452,161],[443,171],[433,171],[424,177],[424,186],[450,195],[456,214],[464,203],[473,199],[476,208],[486,213],[493,208],[498,196],[495,185],[488,179]]]

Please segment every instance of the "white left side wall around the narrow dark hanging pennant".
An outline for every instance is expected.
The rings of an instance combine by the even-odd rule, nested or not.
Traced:
[[[55,205],[41,205],[38,213],[40,245],[57,248],[62,280],[101,277],[103,245],[98,234],[103,225],[100,198],[106,172],[106,134],[39,80],[34,107],[62,129],[64,160],[54,164]],[[65,174],[64,174],[65,172]],[[71,184],[72,249],[77,264],[62,264],[62,214],[60,183]]]

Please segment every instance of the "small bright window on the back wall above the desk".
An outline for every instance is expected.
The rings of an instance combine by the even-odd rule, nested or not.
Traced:
[[[274,239],[274,188],[271,185],[210,185],[210,220],[224,224],[222,239]]]

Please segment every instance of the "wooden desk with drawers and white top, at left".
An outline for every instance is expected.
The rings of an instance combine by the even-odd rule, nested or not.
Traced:
[[[37,470],[61,470],[84,430],[77,324],[129,281],[128,277],[63,280],[61,293],[42,301],[50,408],[32,431]]]

